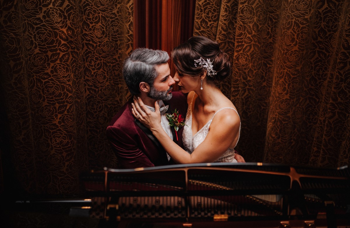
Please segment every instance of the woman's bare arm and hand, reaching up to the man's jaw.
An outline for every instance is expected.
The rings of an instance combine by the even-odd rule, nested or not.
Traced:
[[[160,124],[159,105],[155,104],[156,112],[151,112],[141,99],[134,100],[133,115],[159,140],[170,157],[177,163],[203,163],[214,162],[230,147],[239,134],[239,117],[232,109],[224,109],[217,113],[213,119],[205,140],[198,145],[192,154],[179,147],[165,133]],[[238,138],[237,138],[238,139]]]

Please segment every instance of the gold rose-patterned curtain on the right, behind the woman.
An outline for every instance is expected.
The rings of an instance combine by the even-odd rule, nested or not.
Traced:
[[[231,57],[246,161],[349,164],[350,1],[197,0],[194,35]]]

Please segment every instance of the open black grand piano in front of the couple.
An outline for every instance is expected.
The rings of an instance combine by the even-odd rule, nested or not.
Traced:
[[[348,166],[201,163],[80,178],[86,197],[69,214],[99,227],[350,227]]]

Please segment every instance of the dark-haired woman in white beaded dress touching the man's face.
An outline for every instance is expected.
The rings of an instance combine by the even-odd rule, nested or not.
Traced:
[[[174,48],[172,59],[176,66],[174,80],[181,92],[188,93],[183,129],[186,151],[161,127],[157,102],[156,112],[151,112],[141,99],[134,98],[133,115],[152,131],[176,163],[237,162],[234,148],[239,140],[240,118],[232,102],[215,85],[215,81],[231,75],[228,55],[217,42],[194,36]]]

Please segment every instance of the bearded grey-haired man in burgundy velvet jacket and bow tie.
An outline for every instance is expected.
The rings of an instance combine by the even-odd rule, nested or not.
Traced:
[[[161,108],[161,124],[169,137],[182,146],[182,130],[177,132],[169,126],[165,113],[175,108],[183,117],[187,112],[187,99],[181,92],[172,92],[175,81],[170,76],[169,55],[166,51],[147,48],[135,49],[126,58],[123,75],[132,95],[140,97],[154,111],[158,101]],[[168,165],[170,157],[149,129],[132,115],[131,98],[113,117],[107,127],[107,138],[122,169]]]

